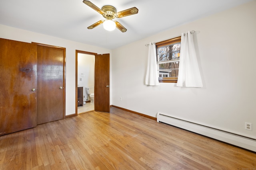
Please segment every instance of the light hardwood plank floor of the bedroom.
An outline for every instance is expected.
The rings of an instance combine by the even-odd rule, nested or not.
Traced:
[[[0,137],[1,170],[245,170],[256,153],[111,107]]]

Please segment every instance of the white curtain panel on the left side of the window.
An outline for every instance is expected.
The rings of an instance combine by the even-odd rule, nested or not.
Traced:
[[[154,42],[150,42],[148,47],[148,66],[145,84],[149,86],[160,85],[158,81],[158,71],[156,64],[156,44]]]

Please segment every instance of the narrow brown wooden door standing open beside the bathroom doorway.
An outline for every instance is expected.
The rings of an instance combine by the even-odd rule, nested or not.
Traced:
[[[95,55],[94,109],[110,111],[109,54]]]

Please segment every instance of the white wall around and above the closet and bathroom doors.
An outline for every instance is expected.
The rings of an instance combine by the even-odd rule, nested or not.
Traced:
[[[34,33],[31,31],[26,31],[23,29],[17,29],[14,27],[9,27],[0,24],[0,38],[11,39],[16,41],[23,41],[27,43],[36,42],[48,45],[54,45],[58,47],[66,48],[66,115],[74,114],[76,112],[75,104],[75,93],[76,93],[76,50],[87,51],[98,54],[110,53],[110,68],[111,68],[111,50],[104,49],[88,44],[78,43],[74,41],[69,41],[66,39],[60,39],[57,37],[52,37],[49,35],[44,35],[40,33]],[[85,37],[86,38],[86,37]],[[111,69],[110,69],[110,83],[111,80]],[[110,86],[110,94],[112,92],[112,87]],[[111,104],[111,95],[110,95]]]

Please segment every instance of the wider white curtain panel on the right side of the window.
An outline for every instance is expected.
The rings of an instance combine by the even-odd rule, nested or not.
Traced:
[[[203,86],[196,59],[193,35],[190,31],[181,34],[180,65],[177,86]]]

